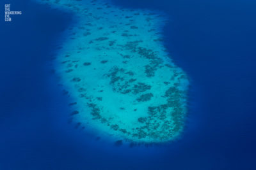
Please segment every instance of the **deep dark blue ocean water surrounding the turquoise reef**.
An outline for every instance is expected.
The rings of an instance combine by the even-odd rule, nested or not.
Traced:
[[[4,22],[4,4],[22,15]],[[256,3],[129,0],[166,12],[164,43],[191,78],[180,141],[150,148],[95,141],[67,123],[68,98],[51,75],[52,49],[71,15],[1,1],[0,169],[256,169]]]

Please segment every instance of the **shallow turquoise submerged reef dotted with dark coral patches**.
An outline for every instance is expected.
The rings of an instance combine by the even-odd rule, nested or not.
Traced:
[[[162,44],[166,18],[88,0],[35,0],[76,18],[63,34],[56,73],[72,97],[72,121],[122,141],[162,143],[179,137],[188,78]]]

